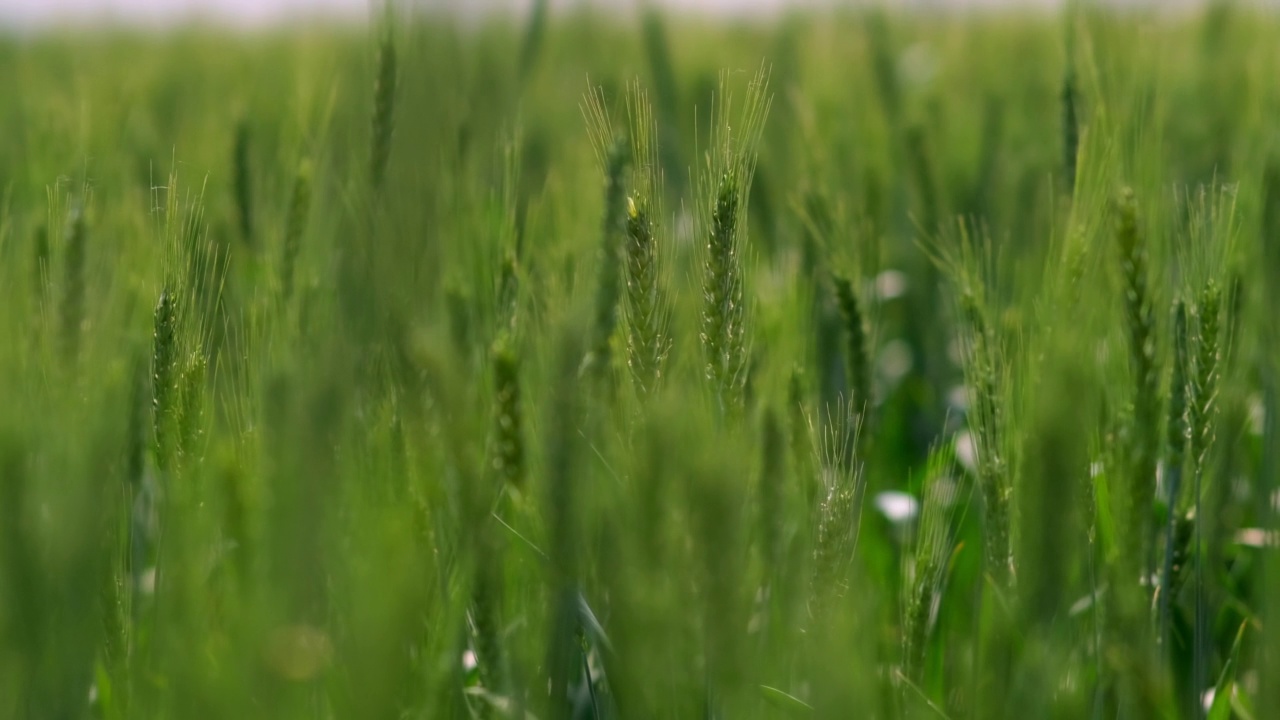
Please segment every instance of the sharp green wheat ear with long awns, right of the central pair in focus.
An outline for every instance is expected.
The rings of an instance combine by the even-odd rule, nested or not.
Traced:
[[[746,224],[756,147],[768,118],[768,69],[751,79],[736,123],[728,74],[721,74],[710,146],[696,182],[703,247],[701,342],[707,380],[722,409],[742,404],[749,352]],[[733,129],[733,127],[737,129]]]

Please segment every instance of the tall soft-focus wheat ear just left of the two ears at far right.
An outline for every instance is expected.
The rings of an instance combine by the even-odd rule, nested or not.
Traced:
[[[1152,507],[1156,498],[1156,455],[1160,437],[1160,373],[1156,366],[1156,316],[1147,270],[1147,241],[1138,227],[1133,191],[1121,191],[1115,208],[1115,237],[1120,251],[1124,307],[1129,334],[1129,368],[1133,373],[1133,450],[1125,493],[1123,524],[1128,547],[1121,557],[1133,564],[1134,575],[1151,565],[1153,556]]]

